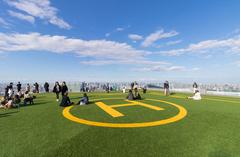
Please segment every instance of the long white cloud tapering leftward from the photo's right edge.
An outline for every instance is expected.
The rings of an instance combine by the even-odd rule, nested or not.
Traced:
[[[179,56],[186,53],[215,53],[220,50],[240,53],[240,38],[229,38],[225,40],[205,40],[196,44],[190,44],[186,48],[161,51],[160,54]]]

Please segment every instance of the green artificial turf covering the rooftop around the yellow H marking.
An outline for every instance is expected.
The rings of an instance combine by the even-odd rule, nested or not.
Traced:
[[[81,93],[70,93],[79,101]],[[0,110],[0,157],[238,157],[240,156],[240,99],[203,96],[201,101],[177,93],[142,94],[141,102],[159,106],[153,111],[141,106],[117,108],[124,117],[113,118],[91,102],[74,106],[77,117],[100,122],[148,122],[178,113],[160,99],[183,106],[188,114],[175,123],[145,128],[104,128],[72,122],[62,115],[55,95],[39,94],[34,105]],[[126,94],[90,93],[90,100],[107,105],[122,104]]]

